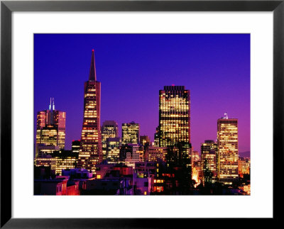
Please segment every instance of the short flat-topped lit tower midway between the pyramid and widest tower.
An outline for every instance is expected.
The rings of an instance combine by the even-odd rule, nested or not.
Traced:
[[[124,144],[138,144],[139,143],[139,129],[138,123],[122,123],[122,145]]]

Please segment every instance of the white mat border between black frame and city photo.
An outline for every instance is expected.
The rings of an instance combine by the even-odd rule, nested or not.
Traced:
[[[13,12],[12,19],[13,218],[273,216],[271,12]],[[251,33],[251,196],[33,196],[33,33]]]

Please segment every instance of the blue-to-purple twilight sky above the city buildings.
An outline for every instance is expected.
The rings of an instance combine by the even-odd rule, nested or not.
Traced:
[[[66,112],[65,148],[79,140],[84,82],[92,49],[102,82],[103,121],[140,123],[153,141],[158,126],[159,90],[185,86],[191,99],[191,140],[200,152],[217,139],[217,119],[239,118],[239,152],[250,151],[249,34],[35,34],[34,117],[48,109]]]

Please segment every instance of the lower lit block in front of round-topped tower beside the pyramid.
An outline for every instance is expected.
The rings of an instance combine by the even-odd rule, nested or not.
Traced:
[[[121,147],[120,138],[107,138],[107,163],[119,162],[119,152]]]

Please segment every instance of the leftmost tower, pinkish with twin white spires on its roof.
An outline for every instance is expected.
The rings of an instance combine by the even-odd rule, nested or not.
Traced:
[[[65,147],[65,120],[64,111],[55,110],[54,99],[50,98],[48,110],[39,111],[36,118],[35,145],[39,144]],[[36,149],[38,154],[38,149]]]

